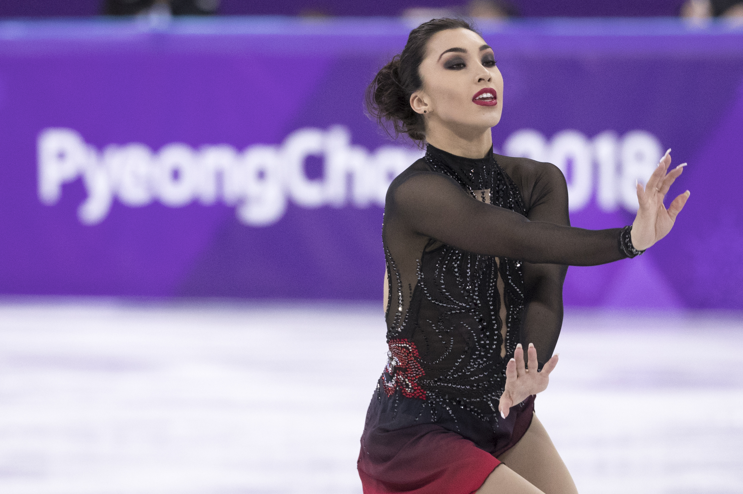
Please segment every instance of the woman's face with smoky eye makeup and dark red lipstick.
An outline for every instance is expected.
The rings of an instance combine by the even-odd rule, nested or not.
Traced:
[[[455,134],[496,125],[503,108],[503,77],[493,49],[468,29],[449,29],[429,39],[419,67],[423,86],[410,105],[426,116],[426,131],[445,125]]]

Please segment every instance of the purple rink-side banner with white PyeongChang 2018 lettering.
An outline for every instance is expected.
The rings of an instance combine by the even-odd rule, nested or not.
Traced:
[[[363,112],[394,19],[0,22],[0,293],[380,300],[386,188],[421,150]],[[692,192],[641,257],[565,303],[743,307],[743,29],[480,26],[496,151],[558,165],[571,222],[632,221],[672,148]]]

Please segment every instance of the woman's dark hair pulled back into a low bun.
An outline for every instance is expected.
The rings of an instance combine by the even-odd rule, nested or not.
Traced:
[[[462,19],[431,19],[416,27],[410,31],[403,53],[393,56],[366,88],[366,110],[393,139],[400,134],[407,134],[414,141],[426,139],[423,115],[415,113],[410,106],[410,96],[423,85],[418,67],[426,55],[426,45],[431,36],[439,31],[459,28],[478,33]],[[395,130],[394,136],[386,125],[389,122]]]

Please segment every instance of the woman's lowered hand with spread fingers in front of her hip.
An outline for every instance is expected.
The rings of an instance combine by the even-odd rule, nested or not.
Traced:
[[[536,360],[536,349],[533,343],[529,343],[528,355],[529,368],[527,369],[524,363],[524,349],[519,343],[513,352],[513,358],[508,361],[506,387],[498,405],[502,418],[508,416],[511,406],[518,405],[530,395],[536,395],[536,393],[547,389],[550,382],[550,372],[557,365],[559,356],[559,354],[553,355],[542,367],[542,372],[538,372],[536,369],[539,367],[539,363]]]

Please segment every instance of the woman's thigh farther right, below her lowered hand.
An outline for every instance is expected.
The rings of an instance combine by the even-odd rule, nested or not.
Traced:
[[[536,415],[524,437],[498,459],[545,494],[578,493],[568,467]]]

